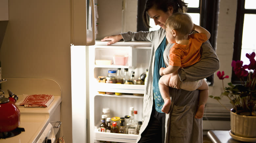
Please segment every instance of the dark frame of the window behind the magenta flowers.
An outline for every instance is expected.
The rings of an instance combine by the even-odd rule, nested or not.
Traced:
[[[235,26],[234,51],[233,51],[233,60],[235,61],[241,60],[245,14],[256,14],[256,8],[245,9],[245,0],[237,0],[236,26]],[[233,71],[233,68],[232,68],[231,82],[234,84],[241,83],[240,79],[236,77]]]

